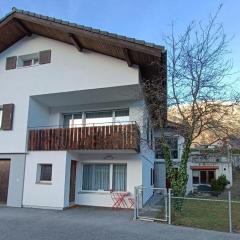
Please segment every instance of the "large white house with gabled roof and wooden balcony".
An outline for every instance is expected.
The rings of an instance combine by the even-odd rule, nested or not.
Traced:
[[[0,201],[111,207],[111,190],[150,188],[151,100],[140,83],[166,92],[165,49],[17,9],[0,35]]]

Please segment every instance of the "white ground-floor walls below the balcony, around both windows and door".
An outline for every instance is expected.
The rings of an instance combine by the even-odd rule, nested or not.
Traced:
[[[112,207],[109,192],[82,191],[83,163],[126,163],[127,192],[133,196],[134,187],[142,184],[142,162],[138,154],[77,154],[72,152],[30,152],[26,159],[23,206],[63,209],[69,206],[71,160],[78,161],[75,203],[80,205]],[[52,184],[36,183],[37,164],[52,164]],[[127,200],[126,200],[127,201]]]

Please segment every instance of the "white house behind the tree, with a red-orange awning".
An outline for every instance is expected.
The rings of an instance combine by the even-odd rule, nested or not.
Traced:
[[[174,131],[169,131],[168,134],[171,156],[174,159],[173,161],[176,168],[178,168],[183,150],[184,138],[177,134],[174,135]],[[170,183],[168,183],[166,179],[166,168],[161,146],[157,144],[157,139],[155,142],[155,186],[170,187]],[[217,179],[221,175],[225,175],[230,185],[232,185],[232,161],[230,152],[227,150],[223,151],[223,148],[219,146],[222,145],[211,145],[209,148],[200,146],[198,149],[191,151],[187,166],[187,193],[196,191],[199,185],[210,186],[211,181]]]

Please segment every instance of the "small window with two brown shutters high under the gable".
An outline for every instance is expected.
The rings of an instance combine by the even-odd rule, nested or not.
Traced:
[[[21,56],[12,56],[6,59],[6,70],[31,67],[51,62],[51,50],[31,53]]]

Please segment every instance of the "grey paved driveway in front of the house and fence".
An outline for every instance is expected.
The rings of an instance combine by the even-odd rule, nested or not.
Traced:
[[[132,221],[129,211],[79,208],[65,211],[0,207],[4,240],[232,240],[239,235]]]

